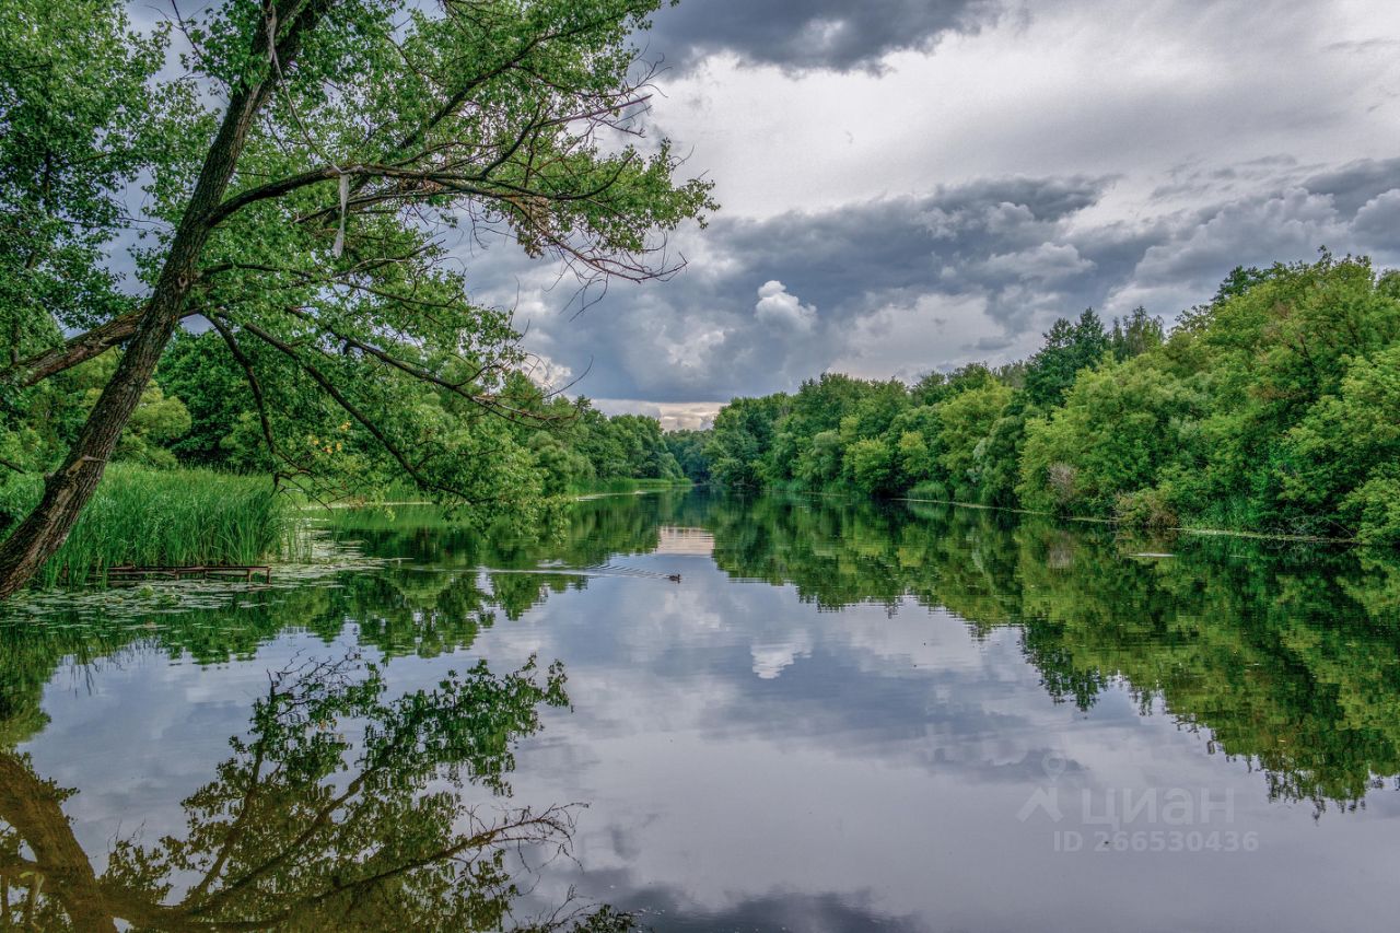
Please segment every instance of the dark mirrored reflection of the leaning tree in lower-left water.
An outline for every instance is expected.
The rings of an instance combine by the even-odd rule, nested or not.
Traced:
[[[483,806],[510,793],[514,747],[564,706],[564,675],[486,664],[389,700],[357,658],[269,678],[249,734],[183,801],[186,828],[119,839],[97,874],[73,792],[0,752],[0,929],[629,930],[573,898],[517,918],[522,850],[568,853],[574,811]],[[515,871],[519,869],[515,867]]]

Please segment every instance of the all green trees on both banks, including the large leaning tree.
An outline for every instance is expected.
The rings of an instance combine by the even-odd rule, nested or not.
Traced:
[[[1170,328],[1091,310],[1019,363],[827,373],[662,436],[539,388],[511,311],[473,300],[452,254],[463,234],[518,248],[581,289],[680,270],[669,235],[718,205],[669,140],[633,141],[654,73],[631,38],[655,0],[552,0],[524,22],[447,4],[407,46],[372,7],[148,34],[98,7],[27,0],[0,34],[0,595],[56,579],[60,548],[94,538],[94,496],[172,468],[319,502],[407,490],[482,521],[689,478],[1400,541],[1400,276],[1366,259],[1240,268]],[[161,70],[176,59],[188,80]],[[346,83],[365,88],[353,112]],[[202,476],[164,488],[220,482]],[[148,538],[143,496],[102,534]],[[150,558],[241,562],[263,528]],[[104,559],[78,565],[62,573]]]

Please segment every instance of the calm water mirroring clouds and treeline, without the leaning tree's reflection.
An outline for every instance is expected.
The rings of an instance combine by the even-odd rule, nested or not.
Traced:
[[[1400,773],[1390,559],[703,493],[585,502],[543,541],[479,539],[409,510],[343,516],[336,534],[388,563],[232,587],[190,612],[0,625],[0,744],[83,787],[64,806],[90,850],[115,820],[153,814],[167,832],[186,818],[164,801],[218,761],[209,724],[237,727],[228,703],[197,698],[290,653],[357,647],[382,664],[385,696],[477,657],[510,670],[538,654],[566,660],[577,709],[545,705],[547,741],[521,733],[517,799],[592,808],[581,867],[546,871],[533,912],[577,883],[659,930],[1361,929],[1393,915],[1366,874],[1400,815],[1385,790]],[[143,710],[158,726],[133,726]],[[101,773],[84,763],[109,748],[126,754]],[[141,755],[183,770],[148,778]],[[1064,821],[1019,820],[1047,786]],[[1212,863],[1051,848],[1056,829],[1092,828],[1091,804],[1177,789],[1233,794],[1228,829],[1257,832],[1259,850]],[[171,873],[176,890],[188,874]],[[1315,888],[1337,894],[1315,902]]]

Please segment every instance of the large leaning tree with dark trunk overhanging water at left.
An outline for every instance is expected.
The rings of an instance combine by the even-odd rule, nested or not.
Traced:
[[[134,31],[122,0],[7,0],[0,403],[120,361],[0,545],[0,595],[62,545],[196,315],[274,471],[337,450],[311,419],[424,489],[490,496],[472,426],[518,415],[521,352],[458,258],[505,238],[585,280],[650,279],[678,265],[666,234],[713,209],[640,139],[651,70],[630,36],[658,3],[224,0]],[[120,249],[139,297],[104,261]]]

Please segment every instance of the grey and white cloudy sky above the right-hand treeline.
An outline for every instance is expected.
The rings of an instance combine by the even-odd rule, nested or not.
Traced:
[[[1007,361],[1322,245],[1400,265],[1387,0],[683,0],[638,41],[648,133],[722,203],[685,272],[574,314],[552,269],[472,263],[608,410]]]

